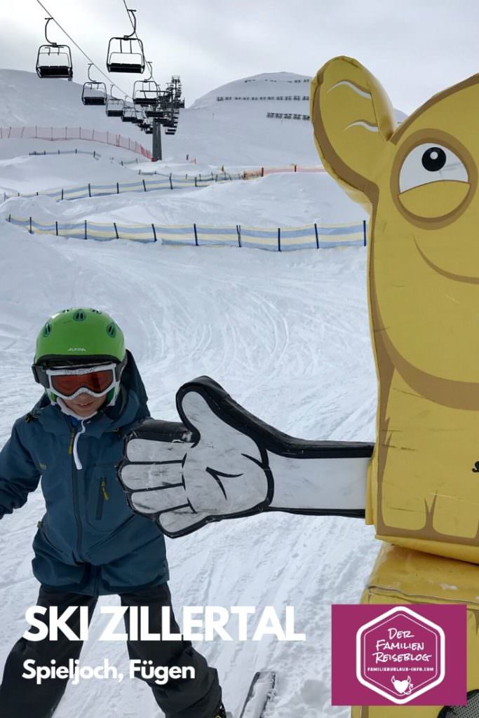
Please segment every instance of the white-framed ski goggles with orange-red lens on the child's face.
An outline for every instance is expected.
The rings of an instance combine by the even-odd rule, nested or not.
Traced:
[[[56,396],[74,399],[80,394],[103,396],[116,388],[121,378],[124,362],[81,367],[56,367],[44,369],[33,367],[35,379]]]

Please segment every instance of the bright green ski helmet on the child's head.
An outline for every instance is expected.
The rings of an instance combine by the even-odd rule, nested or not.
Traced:
[[[118,383],[107,395],[111,405],[118,396],[126,358],[123,332],[109,314],[73,307],[53,314],[39,331],[32,370],[35,381],[47,391],[47,368],[114,363]],[[56,401],[54,393],[47,391],[47,395]]]

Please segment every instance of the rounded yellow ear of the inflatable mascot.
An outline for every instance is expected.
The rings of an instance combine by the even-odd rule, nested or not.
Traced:
[[[377,198],[376,168],[396,126],[380,83],[357,60],[335,57],[312,80],[310,116],[325,169],[370,209]]]

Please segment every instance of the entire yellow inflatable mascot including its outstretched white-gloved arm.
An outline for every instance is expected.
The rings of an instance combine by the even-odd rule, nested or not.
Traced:
[[[363,602],[467,607],[468,705],[353,718],[479,718],[479,75],[399,127],[356,60],[311,89],[322,162],[371,212],[376,444],[289,437],[199,377],[177,392],[180,423],[129,436],[118,476],[172,538],[259,511],[366,516],[384,543]]]

